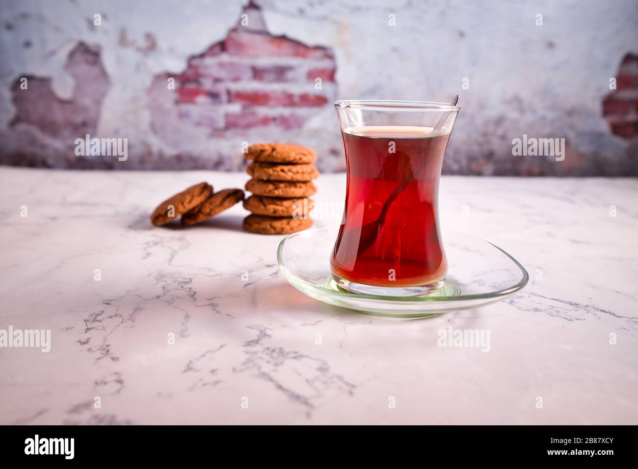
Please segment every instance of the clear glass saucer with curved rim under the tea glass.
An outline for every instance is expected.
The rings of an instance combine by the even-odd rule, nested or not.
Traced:
[[[305,230],[279,243],[277,260],[286,279],[319,301],[373,316],[425,318],[445,311],[477,308],[523,288],[528,273],[515,258],[491,242],[460,233],[443,236],[448,274],[443,287],[421,296],[390,297],[348,292],[330,272],[336,232]]]

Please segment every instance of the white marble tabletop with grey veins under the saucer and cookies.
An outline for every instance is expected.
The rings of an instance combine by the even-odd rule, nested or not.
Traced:
[[[443,177],[444,239],[493,242],[530,283],[393,320],[300,294],[241,205],[149,223],[190,184],[247,179],[0,168],[0,329],[50,330],[49,352],[0,348],[0,424],[638,424],[638,180]],[[317,186],[341,210],[345,175]],[[489,352],[439,346],[450,326]]]

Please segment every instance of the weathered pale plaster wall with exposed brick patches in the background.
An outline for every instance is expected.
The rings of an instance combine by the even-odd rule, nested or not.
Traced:
[[[636,175],[637,31],[631,0],[3,2],[0,162],[236,170],[242,142],[287,140],[343,170],[335,98],[460,94],[444,172]],[[75,156],[84,131],[128,160]],[[512,156],[524,133],[565,161]]]

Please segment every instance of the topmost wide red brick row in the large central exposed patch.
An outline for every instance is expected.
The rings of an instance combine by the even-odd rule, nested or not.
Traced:
[[[285,36],[237,33],[232,31],[224,41],[226,53],[246,57],[304,57],[306,59],[332,58],[327,49],[308,47]]]

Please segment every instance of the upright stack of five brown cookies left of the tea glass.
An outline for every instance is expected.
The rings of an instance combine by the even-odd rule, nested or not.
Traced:
[[[293,144],[255,144],[248,147],[246,172],[253,177],[244,200],[251,212],[244,229],[259,234],[288,234],[312,226],[309,218],[316,192],[313,179],[319,176],[312,149]]]

